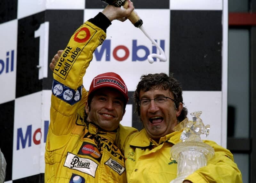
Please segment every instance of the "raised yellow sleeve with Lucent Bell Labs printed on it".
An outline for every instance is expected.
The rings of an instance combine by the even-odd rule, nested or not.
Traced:
[[[57,62],[53,72],[46,149],[65,145],[77,120],[84,116],[88,93],[83,87],[83,76],[94,50],[105,39],[106,33],[102,29],[86,21],[72,35]]]

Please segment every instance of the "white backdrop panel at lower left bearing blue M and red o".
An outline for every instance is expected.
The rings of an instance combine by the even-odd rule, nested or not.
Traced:
[[[40,173],[41,145],[44,142],[41,120],[42,91],[15,100],[12,179]]]

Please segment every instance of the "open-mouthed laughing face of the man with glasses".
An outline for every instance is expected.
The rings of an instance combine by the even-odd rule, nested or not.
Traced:
[[[141,99],[154,99],[160,96],[174,98],[172,92],[161,88],[151,88],[148,91],[140,91]],[[140,106],[140,119],[150,138],[158,141],[161,137],[172,133],[173,127],[177,125],[177,117],[182,110],[182,103],[175,108],[172,100],[167,99],[165,103],[155,103],[151,100],[146,106]]]

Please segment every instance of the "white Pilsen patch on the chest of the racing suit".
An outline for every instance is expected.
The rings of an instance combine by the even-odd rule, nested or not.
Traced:
[[[81,158],[68,152],[64,166],[70,169],[75,169],[80,172],[87,173],[92,177],[95,177],[95,172],[97,170],[98,164],[91,159]]]

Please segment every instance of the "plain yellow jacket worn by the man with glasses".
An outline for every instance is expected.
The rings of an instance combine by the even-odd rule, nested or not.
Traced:
[[[147,136],[146,130],[122,138],[122,130],[116,139],[124,151],[128,183],[170,183],[177,177],[177,162],[171,158],[172,146],[180,141],[182,131],[161,137],[159,143]],[[121,139],[119,139],[119,135]],[[242,183],[242,175],[233,155],[213,141],[204,141],[212,146],[215,156],[207,166],[187,177],[193,183]]]

